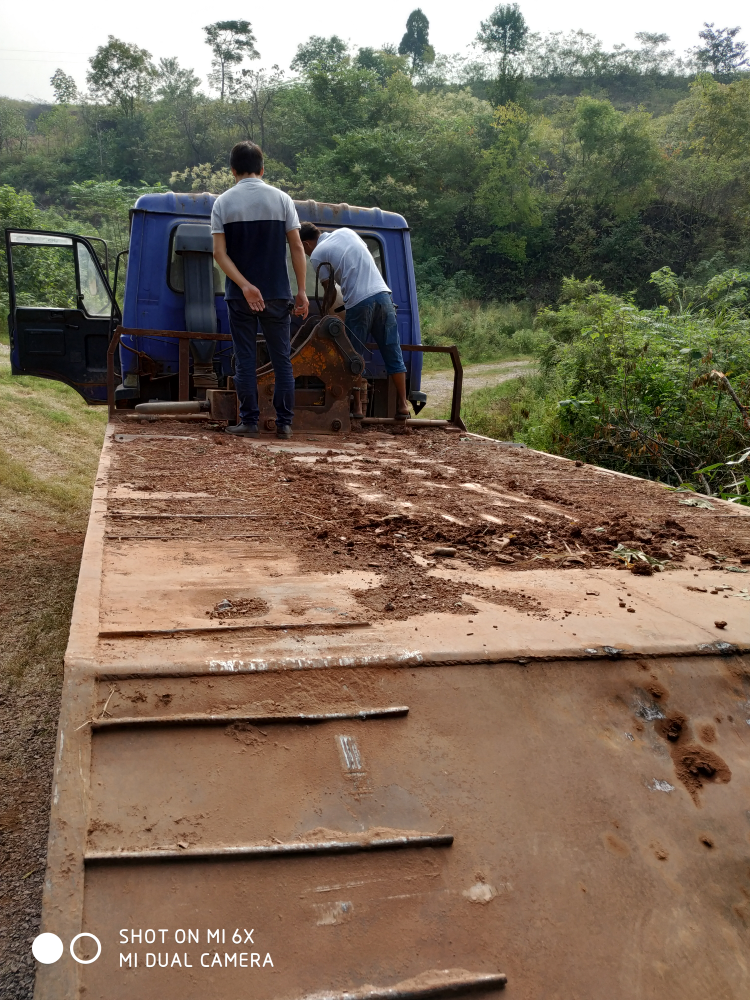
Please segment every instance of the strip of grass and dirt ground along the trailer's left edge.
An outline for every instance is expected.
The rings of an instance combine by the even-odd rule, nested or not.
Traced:
[[[57,716],[106,413],[0,345],[0,995],[31,997]]]

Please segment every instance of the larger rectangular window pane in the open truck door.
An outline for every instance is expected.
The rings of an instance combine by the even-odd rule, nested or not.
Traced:
[[[13,280],[19,306],[75,309],[78,288],[69,236],[13,233]]]

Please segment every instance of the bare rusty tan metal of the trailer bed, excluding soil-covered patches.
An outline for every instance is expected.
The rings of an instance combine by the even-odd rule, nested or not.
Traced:
[[[110,465],[126,451],[137,478],[153,435],[112,423],[102,452],[43,909],[65,952],[36,1000],[748,995],[747,615],[718,641],[687,569],[628,575],[628,616],[615,569],[499,565],[483,585],[548,619],[478,599],[470,624],[368,618],[377,567],[302,573],[268,525],[221,545],[114,527],[124,498],[149,520]],[[207,618],[228,592],[263,621]],[[667,703],[728,775],[680,780]]]

